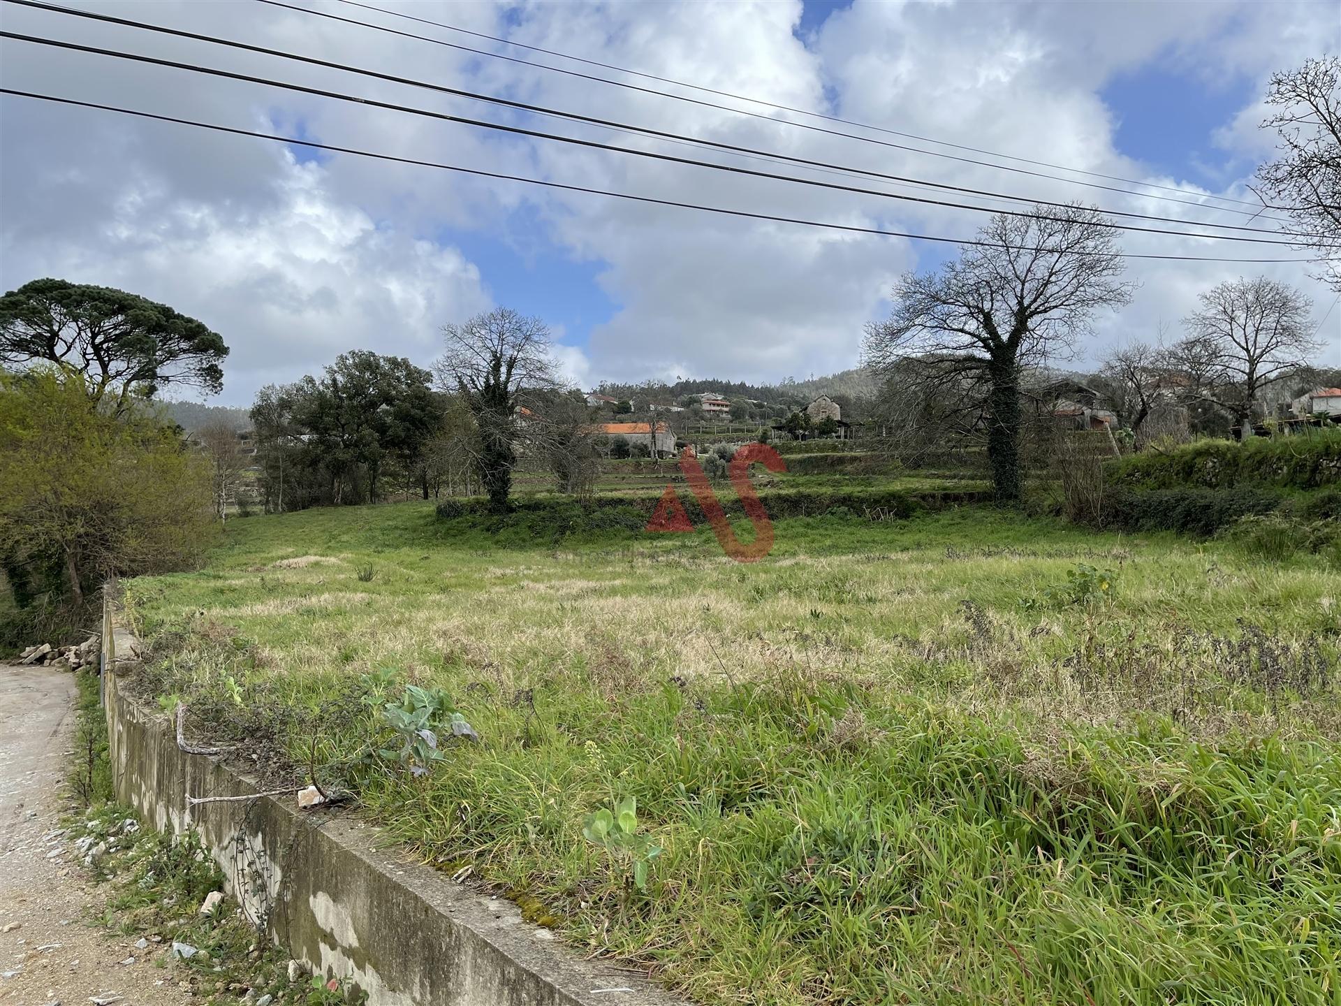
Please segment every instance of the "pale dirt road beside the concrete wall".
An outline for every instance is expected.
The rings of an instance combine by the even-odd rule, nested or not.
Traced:
[[[60,832],[60,790],[75,726],[74,675],[0,664],[0,1006],[192,1002],[164,948],[137,950],[87,923],[103,892]],[[133,963],[126,963],[133,962]]]

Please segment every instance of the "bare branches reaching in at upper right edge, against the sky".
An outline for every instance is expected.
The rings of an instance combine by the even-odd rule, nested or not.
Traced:
[[[1290,215],[1322,260],[1321,279],[1341,292],[1341,56],[1273,75],[1266,103],[1277,111],[1262,126],[1281,134],[1281,158],[1258,169],[1258,196]]]

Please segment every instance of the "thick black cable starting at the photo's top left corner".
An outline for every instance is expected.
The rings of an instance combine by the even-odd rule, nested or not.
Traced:
[[[472,101],[481,101],[481,102],[488,102],[488,103],[492,103],[492,105],[500,105],[500,106],[510,107],[510,109],[518,109],[518,110],[522,110],[522,111],[535,113],[538,115],[547,115],[547,117],[551,117],[551,118],[561,118],[561,119],[571,119],[571,121],[575,121],[575,122],[585,122],[585,123],[601,126],[601,127],[605,127],[605,129],[611,129],[611,130],[616,130],[616,131],[638,133],[638,134],[645,134],[645,135],[656,137],[658,139],[665,139],[665,141],[669,141],[669,142],[679,142],[679,144],[688,144],[688,145],[697,145],[697,146],[713,148],[713,149],[725,150],[728,153],[734,153],[734,154],[738,154],[738,156],[742,156],[742,157],[748,157],[751,160],[756,160],[756,158],[774,158],[774,160],[786,161],[786,162],[790,162],[790,164],[803,165],[803,166],[807,166],[807,168],[813,168],[815,170],[826,172],[826,173],[845,174],[845,176],[849,176],[849,177],[860,174],[860,176],[866,176],[866,177],[872,177],[872,178],[880,178],[882,181],[896,182],[896,184],[900,184],[900,185],[923,185],[923,186],[937,188],[937,189],[944,189],[944,190],[949,190],[949,192],[960,192],[960,193],[971,194],[971,196],[984,196],[987,199],[998,199],[998,200],[1007,200],[1007,201],[1015,201],[1015,203],[1029,203],[1029,204],[1035,205],[1035,207],[1037,205],[1046,205],[1046,207],[1055,207],[1055,208],[1062,209],[1062,208],[1066,208],[1066,205],[1067,205],[1065,203],[1055,203],[1055,201],[1051,201],[1051,200],[1039,200],[1039,199],[1031,199],[1031,197],[1027,197],[1027,196],[1015,196],[1015,194],[1010,194],[1010,193],[992,192],[992,190],[988,190],[988,189],[975,189],[975,188],[968,188],[968,186],[963,186],[963,185],[951,185],[951,184],[947,184],[947,182],[929,181],[929,180],[925,180],[925,178],[913,178],[913,177],[907,177],[907,176],[901,176],[901,174],[888,174],[888,173],[884,173],[884,172],[874,172],[874,170],[869,170],[869,169],[865,169],[865,168],[852,168],[852,166],[848,166],[848,165],[831,164],[829,161],[815,161],[815,160],[811,160],[811,158],[795,157],[795,156],[791,156],[791,154],[783,154],[783,153],[778,153],[778,152],[774,152],[774,150],[760,150],[760,149],[756,149],[756,148],[739,146],[739,145],[735,145],[735,144],[725,144],[725,142],[720,142],[720,141],[715,141],[715,139],[707,139],[707,138],[703,138],[703,137],[692,137],[692,135],[680,134],[680,133],[668,133],[665,130],[650,129],[650,127],[646,127],[646,126],[637,126],[637,125],[625,123],[625,122],[616,122],[616,121],[611,121],[611,119],[595,118],[595,117],[591,117],[591,115],[582,115],[579,113],[566,111],[566,110],[562,110],[562,109],[550,109],[550,107],[544,107],[544,106],[540,106],[540,105],[530,105],[530,103],[526,103],[526,102],[518,102],[518,101],[511,101],[511,99],[507,99],[507,98],[499,98],[496,95],[480,94],[480,93],[476,93],[476,91],[465,91],[465,90],[461,90],[461,89],[457,89],[457,87],[447,87],[444,85],[434,85],[434,83],[429,83],[426,80],[420,80],[420,79],[416,79],[416,78],[397,76],[394,74],[384,74],[384,72],[380,72],[377,70],[367,70],[367,68],[363,68],[363,67],[354,67],[354,66],[349,66],[346,63],[335,63],[333,60],[319,59],[316,56],[303,56],[303,55],[299,55],[299,54],[295,54],[295,52],[287,52],[284,50],[274,50],[274,48],[267,48],[264,46],[253,46],[253,44],[245,43],[245,42],[236,42],[233,39],[221,39],[221,38],[217,38],[215,35],[202,35],[200,32],[186,31],[186,30],[182,30],[182,28],[169,28],[169,27],[160,25],[160,24],[149,24],[149,23],[145,23],[145,21],[129,20],[126,17],[115,17],[113,15],[97,13],[97,12],[93,12],[93,11],[79,11],[79,9],[74,9],[74,8],[59,7],[56,4],[42,3],[40,0],[5,0],[5,3],[13,3],[13,4],[19,4],[21,7],[34,7],[34,8],[43,9],[43,11],[50,11],[50,12],[54,12],[54,13],[64,13],[64,15],[70,15],[70,16],[75,16],[75,17],[84,17],[84,19],[90,19],[90,20],[95,20],[95,21],[103,21],[103,23],[109,23],[109,24],[118,24],[118,25],[122,25],[122,27],[138,28],[138,30],[142,30],[142,31],[158,32],[158,34],[162,34],[162,35],[174,36],[174,38],[185,38],[185,39],[193,39],[193,40],[197,40],[197,42],[207,42],[207,43],[216,44],[216,46],[227,46],[227,47],[243,50],[243,51],[247,51],[247,52],[259,52],[259,54],[268,55],[268,56],[276,56],[276,58],[280,58],[280,59],[295,60],[295,62],[307,63],[307,64],[311,64],[311,66],[320,66],[320,67],[326,67],[326,68],[330,68],[330,70],[339,70],[339,71],[343,71],[343,72],[359,74],[362,76],[370,76],[370,78],[374,78],[374,79],[388,80],[388,82],[392,82],[392,83],[406,85],[406,86],[410,86],[410,87],[421,87],[421,89],[425,89],[425,90],[437,91],[440,94],[449,94],[449,95],[459,97],[459,98],[469,98]],[[282,4],[282,5],[284,5],[284,4]],[[294,8],[294,9],[299,9],[300,11],[303,8]],[[375,25],[369,25],[369,27],[375,27]],[[27,36],[27,38],[31,39],[32,36]],[[544,134],[544,135],[547,135],[547,134]],[[613,149],[624,150],[624,148],[613,148]],[[731,169],[727,169],[727,170],[731,170]],[[869,190],[862,189],[861,192],[869,192]],[[888,194],[888,193],[878,193],[878,194]],[[1133,194],[1133,193],[1128,193],[1128,194]],[[959,207],[959,204],[947,204],[947,205]],[[1192,204],[1192,205],[1202,205],[1202,204]],[[984,208],[982,208],[982,207],[978,207],[976,209],[983,211],[983,212],[996,212],[996,211],[984,211]],[[1210,207],[1210,209],[1215,209],[1215,207]],[[1297,235],[1297,233],[1293,233],[1293,232],[1283,232],[1283,231],[1279,231],[1279,229],[1275,229],[1275,228],[1247,227],[1247,225],[1242,225],[1242,224],[1215,224],[1215,223],[1208,223],[1208,221],[1203,221],[1203,220],[1183,220],[1183,219],[1179,219],[1179,217],[1157,216],[1157,215],[1152,215],[1152,213],[1134,213],[1134,212],[1130,212],[1130,211],[1121,211],[1121,209],[1101,209],[1101,212],[1105,213],[1105,215],[1108,215],[1108,216],[1121,216],[1121,217],[1130,217],[1130,219],[1136,219],[1136,220],[1153,220],[1153,221],[1167,223],[1167,224],[1183,224],[1183,225],[1207,227],[1207,228],[1214,228],[1214,229],[1220,229],[1220,231],[1248,231],[1248,232],[1252,232],[1252,233],[1283,235],[1283,236],[1289,236],[1289,237],[1301,237],[1301,239],[1316,237],[1316,235]],[[1270,217],[1270,219],[1277,219],[1277,217]],[[1210,235],[1207,235],[1207,236],[1210,236]],[[1287,243],[1287,244],[1290,244],[1290,243]]]

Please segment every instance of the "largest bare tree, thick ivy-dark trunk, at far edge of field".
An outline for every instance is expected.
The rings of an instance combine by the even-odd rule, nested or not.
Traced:
[[[974,378],[987,389],[987,457],[996,500],[1021,498],[1021,369],[1070,351],[1094,313],[1125,304],[1132,284],[1113,229],[1097,209],[1037,207],[996,216],[939,272],[908,274],[893,315],[866,327],[865,362],[889,373],[921,357],[929,380]]]

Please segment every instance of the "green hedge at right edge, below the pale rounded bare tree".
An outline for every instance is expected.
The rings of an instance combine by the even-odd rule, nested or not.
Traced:
[[[1200,440],[1168,452],[1145,451],[1110,461],[1105,478],[1110,486],[1129,490],[1321,488],[1341,483],[1341,431],[1258,437],[1243,444]]]

